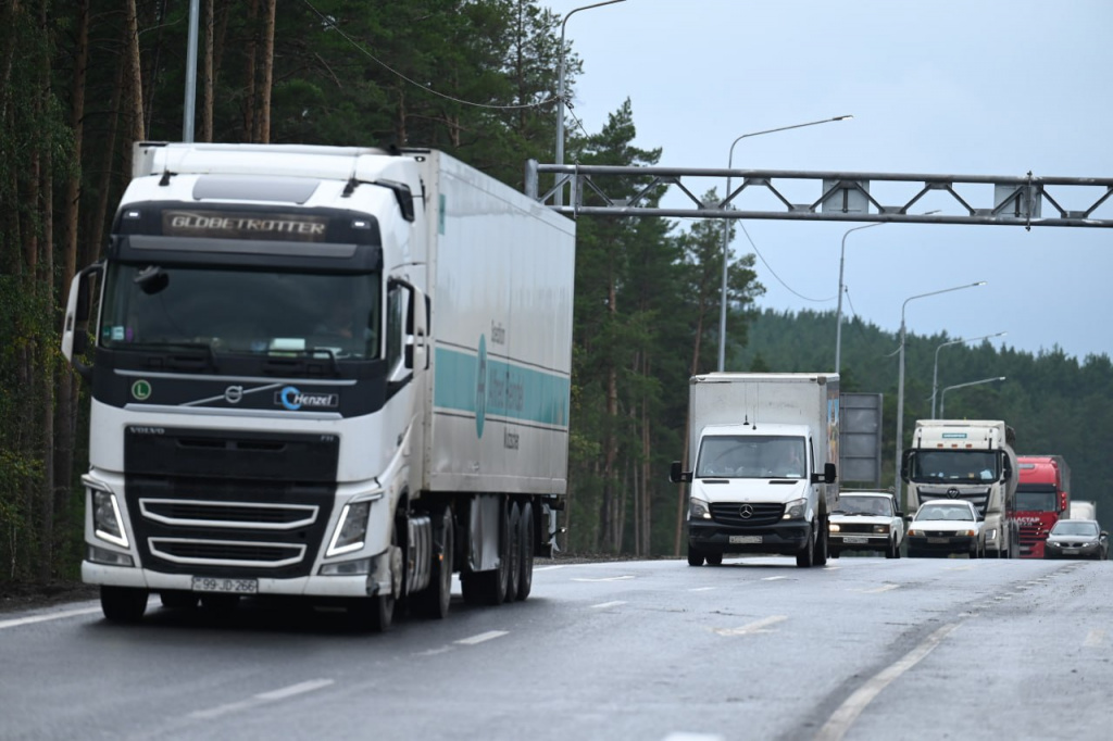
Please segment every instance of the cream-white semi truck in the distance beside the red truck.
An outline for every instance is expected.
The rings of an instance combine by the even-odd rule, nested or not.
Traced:
[[[1020,468],[1012,438],[1012,428],[999,419],[917,419],[900,461],[906,511],[928,500],[966,500],[984,518],[986,555],[1020,557]]]

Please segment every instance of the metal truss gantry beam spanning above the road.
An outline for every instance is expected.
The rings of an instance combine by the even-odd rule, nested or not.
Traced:
[[[540,175],[556,176],[548,192],[538,189]],[[741,181],[721,200],[703,202],[692,192],[692,180],[725,178]],[[787,195],[804,184],[811,196],[805,202]],[[876,186],[885,184],[885,196]],[[612,197],[617,188],[632,197]],[[874,194],[870,194],[870,186]],[[676,186],[691,206],[663,208],[652,205]],[[985,189],[992,186],[992,200]],[[541,165],[529,160],[525,169],[525,192],[549,204],[562,188],[571,191],[567,206],[552,208],[569,216],[652,216],[659,218],[707,219],[794,219],[801,221],[879,221],[910,224],[981,224],[998,226],[1113,227],[1113,178],[1037,177],[996,175],[916,175],[893,172],[841,172],[800,170],[735,170],[683,167],[614,167],[604,165]],[[776,208],[748,210],[733,207],[733,201],[747,189],[759,188],[779,204]],[[890,192],[893,191],[893,192]],[[951,208],[932,214],[912,214],[909,209],[933,191],[947,194]],[[888,202],[881,202],[886,198]],[[987,202],[983,202],[984,199]],[[1068,209],[1061,204],[1077,201],[1081,208]],[[933,207],[938,207],[936,200]],[[1104,208],[1103,208],[1104,207]],[[948,210],[951,213],[948,213]],[[1046,213],[1046,215],[1045,215]]]

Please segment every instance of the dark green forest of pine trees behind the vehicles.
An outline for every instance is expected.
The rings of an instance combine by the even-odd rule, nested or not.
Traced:
[[[561,52],[570,97],[582,69],[571,42],[560,49],[562,19],[536,0],[199,6],[198,141],[432,147],[521,189],[528,159],[553,159]],[[58,350],[62,307],[106,244],[131,142],[184,136],[188,9],[0,0],[0,582],[72,577],[80,563],[89,403]],[[565,129],[567,161],[661,156],[634,146],[628,100],[598,131],[574,111]],[[664,472],[686,453],[687,379],[717,363],[721,229],[578,224],[568,550],[679,552],[681,492]],[[752,255],[731,264],[728,367],[827,368],[834,316],[758,313],[762,293]],[[880,370],[893,337],[854,322],[844,335],[844,388],[885,393],[888,415],[895,370]],[[920,363],[937,339],[908,339],[908,419],[922,413]],[[1076,482],[1097,498],[1110,473],[1099,446],[1113,425],[1107,357],[983,346],[947,360],[948,373],[992,366],[1009,378],[948,399],[948,414],[1015,414],[1021,447],[1077,452]]]

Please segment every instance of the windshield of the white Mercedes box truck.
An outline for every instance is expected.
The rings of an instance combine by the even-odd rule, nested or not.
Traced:
[[[804,478],[802,437],[709,435],[700,443],[697,478]]]

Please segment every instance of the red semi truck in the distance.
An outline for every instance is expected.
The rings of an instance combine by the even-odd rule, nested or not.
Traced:
[[[1016,488],[1021,557],[1042,559],[1047,532],[1071,510],[1071,467],[1062,455],[1021,455],[1017,465],[1021,470]]]

